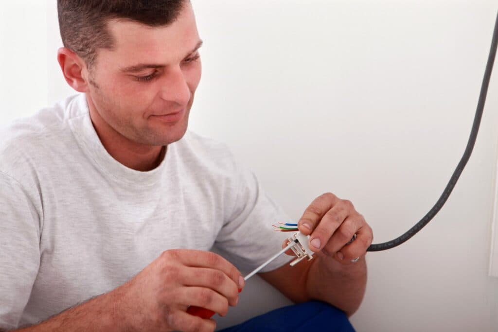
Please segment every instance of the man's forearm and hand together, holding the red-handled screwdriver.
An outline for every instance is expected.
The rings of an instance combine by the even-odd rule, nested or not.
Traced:
[[[213,252],[167,250],[115,290],[16,331],[212,332],[215,321],[189,315],[187,308],[225,316],[243,287],[239,270]]]

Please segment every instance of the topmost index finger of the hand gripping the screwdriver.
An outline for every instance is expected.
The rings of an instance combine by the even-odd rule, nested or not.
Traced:
[[[206,267],[223,271],[239,288],[244,288],[242,273],[228,260],[210,251],[173,249],[164,252],[165,259],[174,259],[191,267]]]

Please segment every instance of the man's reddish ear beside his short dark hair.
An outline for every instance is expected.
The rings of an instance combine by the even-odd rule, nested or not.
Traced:
[[[83,74],[86,71],[85,62],[67,47],[61,47],[57,51],[57,61],[62,69],[62,74],[74,90],[88,92],[88,82]]]

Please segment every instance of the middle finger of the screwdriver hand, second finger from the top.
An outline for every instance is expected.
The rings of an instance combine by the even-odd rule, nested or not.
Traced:
[[[239,301],[239,285],[221,270],[205,267],[189,267],[180,272],[185,286],[211,288],[228,299],[231,306]]]

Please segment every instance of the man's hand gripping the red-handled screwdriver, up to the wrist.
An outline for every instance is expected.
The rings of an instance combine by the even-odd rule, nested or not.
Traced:
[[[134,331],[214,331],[213,320],[186,313],[188,306],[225,316],[244,287],[240,271],[208,251],[164,251],[134,278],[111,293]],[[111,294],[109,294],[111,295]]]

